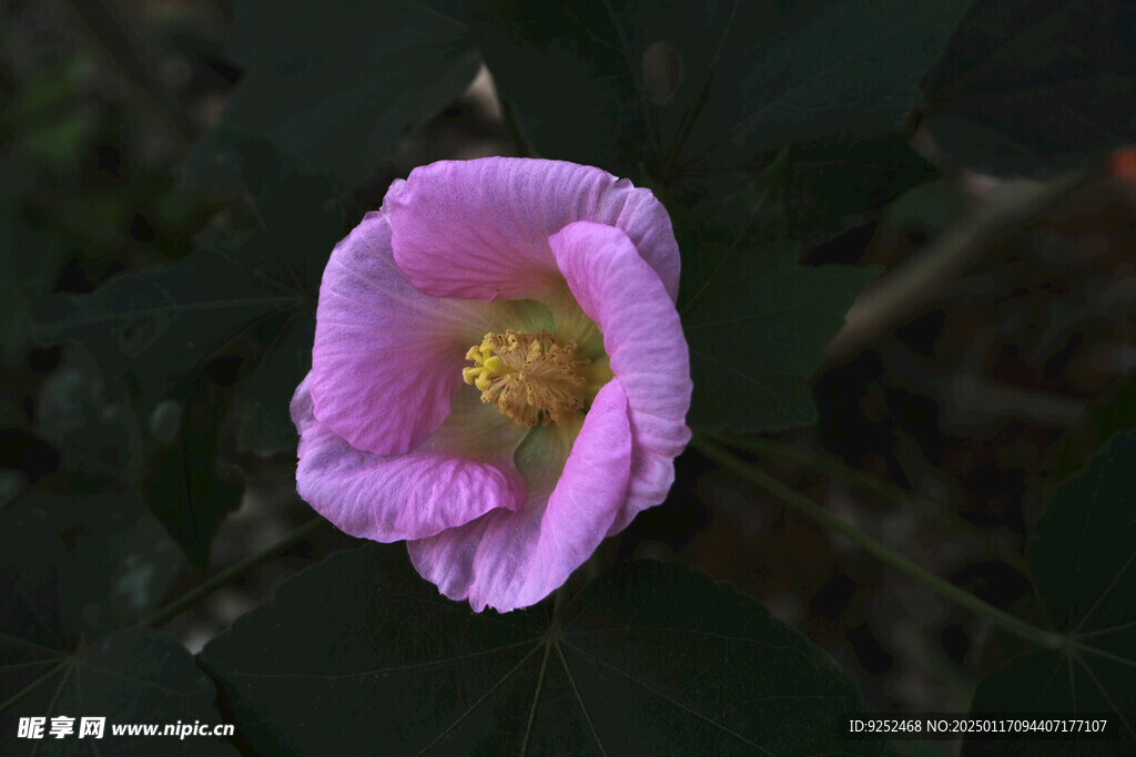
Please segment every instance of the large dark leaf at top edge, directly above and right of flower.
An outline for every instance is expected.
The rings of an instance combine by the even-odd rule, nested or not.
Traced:
[[[785,144],[894,132],[968,2],[475,5],[537,151],[705,188]]]

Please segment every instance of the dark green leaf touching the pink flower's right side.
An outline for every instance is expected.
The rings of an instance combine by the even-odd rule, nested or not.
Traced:
[[[788,150],[762,176],[675,219],[692,426],[771,431],[816,420],[809,378],[872,270],[804,267],[785,239]]]

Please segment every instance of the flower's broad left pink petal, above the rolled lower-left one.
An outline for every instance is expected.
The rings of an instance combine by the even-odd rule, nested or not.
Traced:
[[[335,246],[319,288],[316,418],[358,449],[407,452],[449,413],[488,320],[484,303],[412,287],[394,263],[390,220],[367,213]]]

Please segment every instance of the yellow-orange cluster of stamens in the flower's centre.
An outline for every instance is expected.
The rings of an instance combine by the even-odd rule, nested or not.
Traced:
[[[548,331],[491,331],[466,360],[474,363],[461,371],[466,384],[518,423],[559,423],[584,407],[582,369],[588,361],[576,359],[575,342],[557,344]]]

